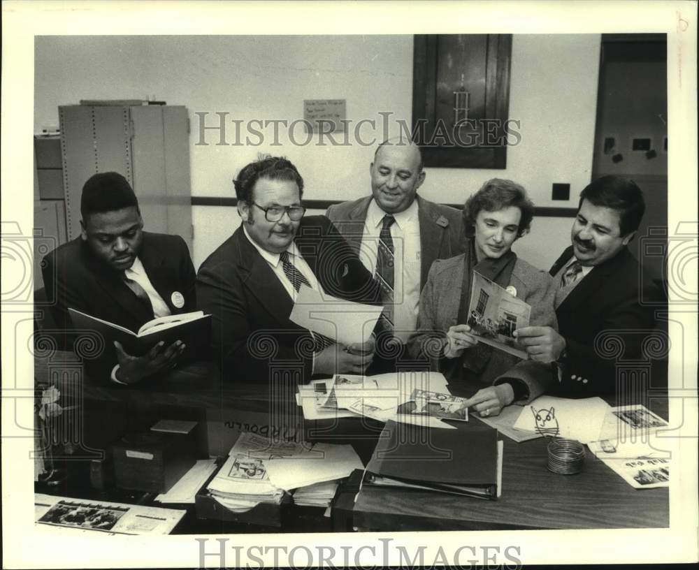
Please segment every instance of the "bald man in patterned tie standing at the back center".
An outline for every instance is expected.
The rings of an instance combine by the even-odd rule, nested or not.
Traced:
[[[370,370],[376,374],[395,369],[415,333],[420,293],[433,261],[463,251],[463,222],[459,210],[417,195],[425,172],[411,140],[382,142],[369,173],[371,196],[331,205],[326,215],[382,284],[387,310]]]

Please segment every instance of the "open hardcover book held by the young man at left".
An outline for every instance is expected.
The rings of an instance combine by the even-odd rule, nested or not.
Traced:
[[[145,323],[136,333],[76,309],[69,308],[68,311],[76,329],[94,330],[109,344],[116,340],[131,356],[145,354],[161,341],[165,346],[175,340],[181,340],[188,347],[208,344],[211,315],[205,315],[202,311],[159,316]]]

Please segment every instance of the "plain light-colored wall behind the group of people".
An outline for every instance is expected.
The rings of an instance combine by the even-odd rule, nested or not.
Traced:
[[[514,36],[510,118],[521,121],[521,143],[507,151],[505,170],[428,168],[421,194],[430,200],[463,203],[493,176],[509,177],[528,189],[536,205],[572,207],[590,180],[596,116],[599,34]],[[157,98],[186,105],[192,120],[193,196],[233,196],[231,179],[259,152],[284,154],[298,166],[305,198],[345,200],[368,192],[368,165],[374,145],[291,144],[281,129],[279,146],[266,129],[260,146],[234,145],[233,122],[227,146],[217,133],[199,142],[199,117],[218,124],[227,119],[303,117],[305,98],[346,98],[347,119],[365,125],[365,141],[384,133],[379,112],[410,122],[412,115],[412,36],[44,36],[36,38],[35,130],[57,125],[58,105],[84,98]],[[294,131],[303,140],[303,131]],[[244,131],[241,142],[250,134]],[[354,133],[353,133],[354,135]],[[552,202],[551,184],[568,182],[571,200]],[[194,263],[201,261],[237,226],[229,208],[194,207]],[[565,221],[567,224],[568,221]],[[563,225],[565,225],[563,224]],[[535,220],[532,235],[517,248],[542,267],[559,254],[568,233],[561,221]]]

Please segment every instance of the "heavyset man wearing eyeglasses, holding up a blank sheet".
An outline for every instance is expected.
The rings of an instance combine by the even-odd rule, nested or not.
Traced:
[[[361,374],[371,362],[370,347],[333,344],[289,315],[301,285],[379,304],[370,272],[329,219],[303,217],[303,178],[287,159],[250,163],[234,184],[243,224],[196,278],[224,379],[267,383],[280,365],[301,372],[302,382],[313,374]]]

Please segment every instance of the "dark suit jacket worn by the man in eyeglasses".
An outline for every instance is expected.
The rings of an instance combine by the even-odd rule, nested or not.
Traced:
[[[303,218],[294,241],[326,293],[380,303],[378,284],[326,217]],[[312,337],[289,321],[294,303],[242,226],[202,263],[196,295],[212,315],[224,379],[267,383],[281,366],[296,371],[295,381],[310,380]]]

